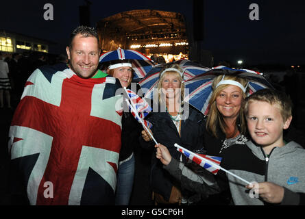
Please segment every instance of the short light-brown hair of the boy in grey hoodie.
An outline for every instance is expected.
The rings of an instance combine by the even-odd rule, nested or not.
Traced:
[[[279,90],[269,88],[258,90],[245,99],[245,115],[247,115],[249,103],[251,101],[263,101],[271,105],[276,105],[280,110],[283,121],[286,121],[292,115],[293,103],[291,99]]]

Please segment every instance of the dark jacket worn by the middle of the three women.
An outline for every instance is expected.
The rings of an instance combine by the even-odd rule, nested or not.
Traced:
[[[152,123],[153,127],[151,131],[153,132],[154,138],[160,144],[167,146],[169,153],[175,158],[180,160],[182,156],[182,161],[186,162],[186,157],[177,151],[174,144],[177,143],[180,146],[188,150],[202,149],[203,146],[203,131],[204,115],[197,110],[186,107],[184,109],[189,109],[188,116],[182,120],[181,123],[181,137],[175,127],[169,113],[167,112],[152,112],[147,116],[147,120]],[[143,138],[140,138],[141,146],[146,149],[154,148],[154,141],[145,142]],[[162,163],[156,158],[156,154],[152,154],[151,159],[151,175],[150,175],[151,188],[154,192],[162,194],[165,200],[169,200],[171,194],[171,188],[175,179],[169,175],[169,172],[162,168]],[[180,183],[180,182],[178,182]]]

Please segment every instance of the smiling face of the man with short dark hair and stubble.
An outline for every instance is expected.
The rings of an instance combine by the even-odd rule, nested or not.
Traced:
[[[66,47],[66,54],[70,60],[70,68],[82,78],[90,78],[97,73],[99,65],[99,44],[97,38],[84,38],[77,34],[72,41],[72,48]]]

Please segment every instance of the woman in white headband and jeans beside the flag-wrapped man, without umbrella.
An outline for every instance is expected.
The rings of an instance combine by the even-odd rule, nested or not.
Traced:
[[[122,88],[131,88],[134,75],[131,62],[132,60],[112,60],[106,68],[108,75],[119,79]],[[135,172],[134,147],[139,144],[141,130],[141,125],[134,120],[134,116],[130,112],[123,112],[115,205],[130,203]]]

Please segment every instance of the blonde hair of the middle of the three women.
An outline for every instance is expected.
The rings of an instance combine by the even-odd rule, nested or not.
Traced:
[[[166,72],[164,72],[164,70],[167,70],[167,68],[175,68],[177,69],[178,71],[180,71],[180,73],[178,73],[177,71],[175,70],[168,70]],[[164,73],[163,73],[164,72]],[[183,77],[182,77],[182,69],[180,68],[180,66],[178,64],[170,64],[170,65],[166,65],[164,68],[162,68],[162,70],[160,70],[160,76],[159,76],[159,81],[158,81],[158,84],[157,84],[157,89],[158,89],[158,101],[159,103],[164,103],[164,100],[162,99],[162,96],[161,96],[161,88],[162,88],[162,81],[165,77],[165,75],[168,75],[168,74],[174,74],[176,76],[178,76],[178,79],[181,83],[181,92],[180,92],[180,95],[181,95],[181,103],[183,101],[183,98],[184,98],[184,83],[182,83],[183,81]]]

